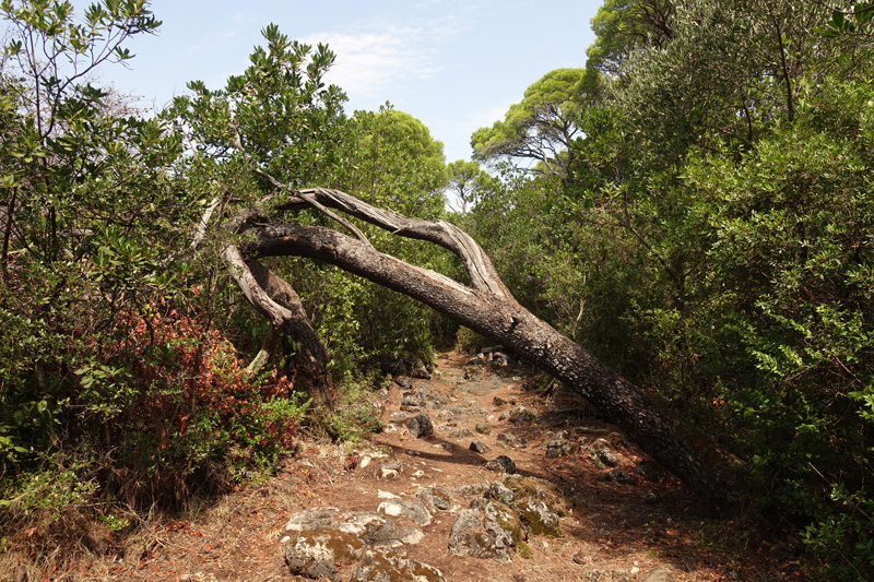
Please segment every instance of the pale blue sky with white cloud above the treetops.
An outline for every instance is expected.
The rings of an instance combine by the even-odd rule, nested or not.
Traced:
[[[86,5],[87,1],[74,2]],[[583,67],[590,20],[601,0],[225,1],[155,0],[163,25],[128,46],[130,70],[105,82],[156,106],[186,83],[224,86],[241,72],[269,23],[336,52],[328,81],[349,95],[347,112],[391,102],[444,142],[448,162],[470,158],[470,135],[503,119],[546,72]]]

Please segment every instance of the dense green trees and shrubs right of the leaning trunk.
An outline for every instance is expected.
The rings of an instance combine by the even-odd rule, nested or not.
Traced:
[[[819,3],[737,0],[673,3],[643,36],[654,4],[593,23],[616,82],[575,112],[569,178],[504,166],[463,223],[523,305],[740,459],[824,579],[870,578],[865,33],[824,43]]]

